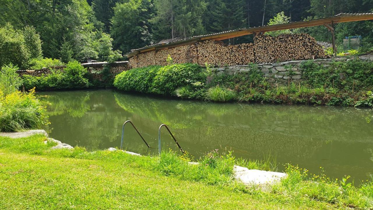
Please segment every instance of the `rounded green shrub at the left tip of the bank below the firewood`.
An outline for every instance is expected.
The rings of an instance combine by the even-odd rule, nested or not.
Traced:
[[[116,75],[114,86],[119,90],[150,93],[150,87],[160,66],[148,66],[123,71]]]

